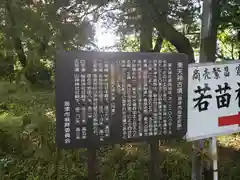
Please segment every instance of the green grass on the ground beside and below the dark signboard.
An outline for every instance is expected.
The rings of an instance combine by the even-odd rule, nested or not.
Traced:
[[[56,147],[53,90],[0,82],[0,97],[0,180],[88,179],[86,149]],[[218,138],[220,180],[240,180],[239,141],[238,134]],[[99,179],[148,179],[146,144],[102,147],[97,153]],[[163,142],[159,161],[164,179],[191,179],[191,143]]]

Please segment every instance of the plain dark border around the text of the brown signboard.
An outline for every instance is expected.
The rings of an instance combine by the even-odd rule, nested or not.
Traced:
[[[62,143],[62,140],[59,136],[62,137],[62,133],[61,130],[59,129],[62,129],[62,124],[59,122],[60,119],[62,119],[61,115],[59,113],[61,113],[61,110],[63,110],[62,107],[59,107],[60,105],[59,104],[62,104],[62,99],[63,97],[59,98],[60,96],[64,95],[64,93],[62,92],[63,89],[65,88],[65,92],[70,92],[72,91],[71,88],[73,87],[69,87],[70,89],[68,91],[66,91],[66,87],[63,86],[63,80],[65,80],[67,82],[67,80],[69,81],[69,79],[67,79],[67,73],[69,73],[70,71],[70,67],[68,66],[71,66],[71,65],[63,65],[63,64],[59,64],[59,61],[64,61],[64,58],[65,58],[65,61],[66,61],[66,58],[68,60],[72,60],[73,61],[73,58],[76,58],[76,57],[83,57],[85,59],[88,59],[86,58],[87,54],[90,54],[91,53],[91,57],[90,58],[94,58],[94,57],[97,57],[98,59],[101,58],[99,57],[99,53],[101,53],[104,57],[104,55],[109,55],[109,57],[107,57],[106,59],[113,59],[115,57],[117,58],[121,58],[121,59],[124,59],[126,57],[130,58],[131,60],[134,60],[132,58],[137,58],[139,57],[141,59],[141,61],[144,60],[144,58],[146,59],[149,59],[149,60],[154,60],[154,58],[158,58],[159,60],[162,59],[162,60],[167,60],[167,62],[169,62],[168,60],[170,60],[170,62],[172,63],[176,63],[177,62],[182,62],[183,63],[183,71],[185,70],[185,72],[183,72],[184,74],[184,86],[185,86],[185,89],[187,90],[187,86],[188,86],[188,82],[186,80],[186,77],[188,76],[188,61],[187,61],[187,55],[185,54],[182,54],[182,53],[152,53],[152,52],[87,52],[87,51],[83,51],[83,52],[79,52],[79,51],[59,51],[57,52],[57,62],[56,62],[56,74],[55,74],[55,78],[56,78],[56,106],[57,106],[57,113],[56,113],[56,118],[57,118],[57,135],[56,135],[56,140],[57,140],[57,144],[60,146],[60,147],[64,147],[64,148],[84,148],[84,147],[90,147],[90,146],[100,146],[100,145],[107,145],[107,144],[123,144],[123,143],[131,143],[131,142],[140,142],[140,141],[156,141],[156,140],[160,140],[160,139],[182,139],[182,137],[184,137],[184,135],[186,134],[187,132],[187,121],[186,121],[186,117],[187,117],[187,108],[185,108],[183,111],[185,112],[185,116],[183,116],[183,118],[181,119],[184,127],[183,129],[181,130],[181,132],[179,132],[179,134],[174,134],[174,135],[158,135],[158,136],[148,136],[148,137],[142,137],[141,139],[137,139],[137,138],[133,138],[133,139],[125,139],[125,140],[117,140],[116,142],[114,141],[106,141],[106,142],[98,142],[98,141],[95,141],[94,139],[89,139],[87,141],[85,141],[85,144],[86,145],[80,145],[79,143],[76,143],[76,140],[74,140],[74,143],[72,144],[69,144],[69,145],[65,145],[64,143]],[[84,55],[85,54],[85,55]],[[68,57],[68,55],[70,57]],[[123,57],[122,57],[123,55]],[[96,59],[96,58],[95,58]],[[92,61],[92,60],[91,60]],[[65,71],[64,74],[62,74],[62,70],[63,69],[67,69]],[[72,69],[73,70],[73,69]],[[177,70],[175,70],[177,71]],[[64,75],[64,76],[62,76]],[[65,78],[65,79],[64,79]],[[173,78],[176,78],[176,77],[173,77]],[[70,81],[73,81],[72,79]],[[68,82],[68,83],[71,83],[71,82]],[[69,84],[68,84],[69,85]],[[66,86],[68,86],[66,85]],[[184,89],[184,90],[185,90]],[[175,90],[173,89],[172,90],[172,93],[176,93]],[[183,103],[185,103],[185,106],[187,107],[187,92],[183,92]],[[65,95],[64,95],[65,96]],[[174,100],[175,101],[175,100]],[[174,108],[173,108],[174,109]],[[72,112],[72,111],[71,111]],[[173,119],[173,121],[175,121]],[[90,123],[92,124],[92,123]],[[88,124],[89,126],[89,124]],[[89,127],[88,127],[89,128]],[[89,128],[91,129],[91,128]],[[90,132],[90,137],[92,137],[92,132]]]

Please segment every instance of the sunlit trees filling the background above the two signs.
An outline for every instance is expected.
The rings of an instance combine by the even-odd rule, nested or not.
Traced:
[[[0,5],[1,66],[8,67],[10,76],[14,74],[13,65],[20,65],[31,83],[50,80],[51,69],[45,72],[40,69],[53,67],[57,49],[98,49],[94,44],[94,23],[98,20],[120,36],[120,42],[116,42],[119,50],[178,51],[194,62],[200,47],[201,3],[200,0],[5,0]],[[207,56],[212,61],[238,59],[239,2],[213,0],[212,6],[211,33],[204,41]]]

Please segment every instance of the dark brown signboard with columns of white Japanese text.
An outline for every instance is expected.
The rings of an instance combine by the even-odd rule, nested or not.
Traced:
[[[187,82],[184,54],[58,52],[57,144],[85,148],[182,138]]]

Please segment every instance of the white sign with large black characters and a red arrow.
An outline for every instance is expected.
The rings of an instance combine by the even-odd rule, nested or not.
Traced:
[[[239,112],[240,61],[189,65],[188,141],[240,132]]]

